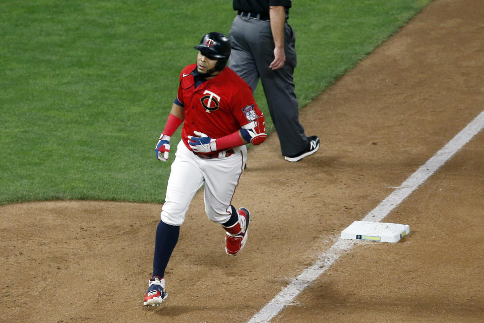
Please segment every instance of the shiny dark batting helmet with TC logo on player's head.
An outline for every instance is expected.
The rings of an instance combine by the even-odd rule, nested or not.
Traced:
[[[230,39],[219,32],[209,32],[202,37],[200,44],[194,47],[209,59],[218,60],[215,69],[223,70],[230,56]]]

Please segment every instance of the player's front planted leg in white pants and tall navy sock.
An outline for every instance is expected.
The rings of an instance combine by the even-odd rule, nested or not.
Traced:
[[[185,221],[190,202],[203,184],[196,160],[190,156],[193,153],[187,151],[186,146],[180,143],[171,165],[161,221],[156,228],[153,275],[143,302],[146,306],[157,306],[168,296],[165,290],[165,268],[178,241],[179,227]]]

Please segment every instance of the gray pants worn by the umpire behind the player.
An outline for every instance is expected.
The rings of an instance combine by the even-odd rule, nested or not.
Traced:
[[[293,73],[296,67],[294,30],[284,25],[286,62],[278,70],[269,69],[274,60],[274,40],[269,21],[236,16],[229,33],[232,51],[228,67],[256,89],[259,77],[284,156],[304,150],[308,137],[299,123]]]

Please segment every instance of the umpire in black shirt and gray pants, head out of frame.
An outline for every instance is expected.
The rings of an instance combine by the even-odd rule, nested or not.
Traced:
[[[237,16],[229,38],[228,67],[254,92],[259,78],[269,113],[288,161],[298,161],[319,149],[317,136],[307,137],[299,123],[293,73],[296,67],[295,34],[287,23],[291,0],[233,0]]]

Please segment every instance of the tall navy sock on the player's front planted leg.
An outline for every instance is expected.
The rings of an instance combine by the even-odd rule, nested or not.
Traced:
[[[163,278],[165,276],[166,265],[168,260],[170,260],[171,252],[173,252],[176,242],[178,242],[179,235],[179,226],[171,226],[163,221],[158,223],[155,238],[155,255],[153,256],[153,277],[159,276]]]

